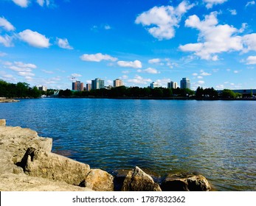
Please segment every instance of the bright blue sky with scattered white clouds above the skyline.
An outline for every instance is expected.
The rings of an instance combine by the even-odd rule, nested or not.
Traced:
[[[256,88],[251,0],[1,0],[0,79]]]

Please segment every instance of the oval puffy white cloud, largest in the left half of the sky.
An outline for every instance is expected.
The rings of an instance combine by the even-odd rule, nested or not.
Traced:
[[[44,35],[41,35],[38,32],[33,32],[30,29],[19,32],[18,37],[24,42],[28,43],[30,46],[38,48],[49,48],[50,46],[49,38],[46,38]]]

